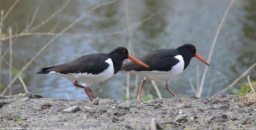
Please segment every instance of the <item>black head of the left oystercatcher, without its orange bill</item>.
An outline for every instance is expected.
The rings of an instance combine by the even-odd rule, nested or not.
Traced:
[[[124,61],[128,58],[128,50],[125,47],[116,47],[111,52],[109,52],[109,57],[118,61]]]

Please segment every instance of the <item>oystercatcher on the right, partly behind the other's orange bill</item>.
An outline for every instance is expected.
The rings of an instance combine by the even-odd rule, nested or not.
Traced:
[[[163,81],[166,83],[165,89],[168,90],[173,96],[174,92],[168,86],[168,83],[172,78],[179,75],[184,71],[192,57],[196,57],[200,61],[210,66],[200,55],[196,54],[196,48],[191,44],[184,44],[176,49],[162,49],[150,52],[144,57],[140,57],[139,60],[147,64],[150,68],[144,68],[129,62],[124,64],[121,68],[123,71],[134,73],[144,77],[141,81],[140,91],[137,96],[139,101],[141,100],[141,91],[146,80]]]

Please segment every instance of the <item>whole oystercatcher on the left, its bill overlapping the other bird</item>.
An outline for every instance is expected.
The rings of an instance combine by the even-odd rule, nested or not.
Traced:
[[[122,67],[125,59],[131,59],[148,68],[147,64],[129,55],[127,48],[116,47],[109,54],[84,55],[65,64],[42,68],[37,73],[53,73],[68,80],[74,80],[74,86],[84,89],[90,101],[93,101],[92,96],[95,96],[95,94],[89,86],[92,83],[104,82],[115,75]],[[86,83],[86,86],[77,84],[77,81]]]

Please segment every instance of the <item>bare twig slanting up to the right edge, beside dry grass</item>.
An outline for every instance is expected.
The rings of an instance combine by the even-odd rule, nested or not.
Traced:
[[[252,66],[250,66],[248,69],[246,69],[238,78],[236,78],[236,80],[234,80],[234,82],[230,83],[230,85],[228,85],[227,87],[225,87],[225,89],[222,89],[220,92],[218,92],[217,94],[214,94],[211,97],[217,96],[218,94],[221,94],[223,92],[226,92],[226,90],[228,90],[230,87],[233,87],[237,82],[239,82],[239,80],[241,80],[241,78],[243,78],[244,76],[246,76],[249,71],[251,69],[253,69],[256,66],[256,62],[254,64],[252,64]]]

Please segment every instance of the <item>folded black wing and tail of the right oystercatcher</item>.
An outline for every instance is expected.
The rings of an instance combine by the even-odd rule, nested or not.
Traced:
[[[180,55],[178,50],[175,49],[162,49],[150,52],[144,57],[140,57],[139,60],[149,66],[145,68],[134,62],[129,62],[122,66],[123,71],[170,71],[172,66],[179,62],[175,59],[176,55]]]

